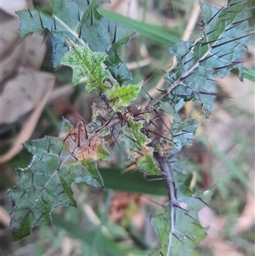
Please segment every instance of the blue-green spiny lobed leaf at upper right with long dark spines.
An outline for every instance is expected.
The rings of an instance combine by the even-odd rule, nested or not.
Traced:
[[[208,118],[216,93],[215,76],[223,78],[237,67],[242,80],[242,50],[251,34],[247,29],[246,0],[229,1],[221,9],[200,5],[201,37],[195,42],[177,43],[169,48],[169,52],[176,56],[178,66],[165,76],[174,88],[163,100],[169,102],[174,111],[186,101],[200,101]]]

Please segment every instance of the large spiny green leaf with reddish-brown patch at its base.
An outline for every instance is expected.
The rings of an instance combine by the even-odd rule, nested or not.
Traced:
[[[111,161],[111,153],[102,138],[84,140],[84,136],[81,124],[74,129],[64,119],[58,138],[46,136],[24,144],[33,158],[27,168],[17,169],[18,185],[9,191],[15,203],[11,213],[14,240],[29,235],[34,226],[50,224],[55,208],[77,207],[73,182],[104,188],[97,161]]]

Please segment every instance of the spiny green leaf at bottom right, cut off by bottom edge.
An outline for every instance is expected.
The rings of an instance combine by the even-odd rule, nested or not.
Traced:
[[[161,246],[150,256],[188,256],[198,242],[206,236],[207,229],[201,227],[198,212],[206,206],[213,190],[192,194],[182,183],[176,185],[178,207],[165,204],[165,213],[153,215],[150,222],[156,230]]]

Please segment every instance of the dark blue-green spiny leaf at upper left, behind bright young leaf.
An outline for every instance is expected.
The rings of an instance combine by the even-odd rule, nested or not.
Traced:
[[[94,52],[106,53],[105,64],[118,82],[132,80],[132,75],[117,54],[118,48],[128,43],[134,32],[116,22],[105,19],[97,9],[100,3],[108,0],[52,0],[53,15],[43,14],[39,10],[21,10],[20,37],[45,31],[53,45],[53,64],[57,68],[60,60],[68,52],[65,42],[69,38],[77,45],[88,43]]]

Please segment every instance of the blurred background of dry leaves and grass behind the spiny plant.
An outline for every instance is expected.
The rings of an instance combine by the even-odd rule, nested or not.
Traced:
[[[139,32],[120,55],[137,81],[150,95],[161,88],[163,71],[174,65],[167,47],[180,40],[200,37],[200,9],[195,1],[116,0],[99,9],[110,20]],[[217,6],[226,1],[207,1]],[[203,1],[205,3],[205,1]],[[254,17],[252,0],[249,1]],[[100,164],[105,191],[74,185],[78,208],[59,208],[53,225],[42,226],[21,242],[12,242],[8,212],[13,207],[8,188],[16,184],[14,169],[25,168],[31,155],[20,144],[27,139],[56,136],[61,117],[74,124],[90,121],[95,94],[85,94],[84,84],[71,85],[71,70],[54,71],[48,38],[31,35],[19,41],[19,19],[14,11],[38,9],[50,13],[47,0],[3,2],[1,26],[1,255],[148,255],[157,246],[150,215],[161,213],[167,201],[166,186],[156,177],[143,177],[127,162],[118,146],[113,165]],[[105,10],[107,9],[107,10]],[[120,16],[122,15],[122,16]],[[254,32],[254,18],[250,20]],[[254,37],[244,59],[254,59]],[[192,256],[253,255],[254,237],[254,62],[246,62],[246,77],[233,74],[218,79],[218,96],[209,121],[201,106],[187,103],[180,111],[200,121],[194,145],[184,147],[183,173],[193,191],[217,189],[200,213],[208,236]],[[253,81],[253,82],[252,82]],[[139,104],[148,101],[142,92]],[[169,107],[162,106],[171,112]],[[173,113],[172,113],[173,114]],[[149,180],[151,179],[151,180]]]

